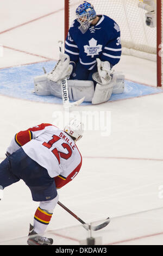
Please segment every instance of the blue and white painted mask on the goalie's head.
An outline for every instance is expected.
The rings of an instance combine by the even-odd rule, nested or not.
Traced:
[[[77,21],[81,25],[80,29],[82,29],[82,32],[86,32],[92,20],[96,19],[96,11],[92,4],[84,1],[84,3],[80,4],[76,9],[76,16]]]

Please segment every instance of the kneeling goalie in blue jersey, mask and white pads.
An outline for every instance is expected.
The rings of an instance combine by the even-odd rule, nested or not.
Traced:
[[[86,1],[79,5],[76,16],[65,41],[65,53],[60,53],[59,62],[47,75],[46,88],[42,88],[42,77],[36,78],[35,92],[61,96],[59,85],[67,77],[70,100],[85,96],[85,101],[93,104],[108,101],[112,93],[124,90],[124,76],[113,70],[121,59],[120,27],[110,17],[97,15]]]

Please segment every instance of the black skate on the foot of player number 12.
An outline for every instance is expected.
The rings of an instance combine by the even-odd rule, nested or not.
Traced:
[[[53,239],[47,238],[45,236],[38,235],[33,228],[33,225],[30,224],[29,228],[29,238],[27,240],[28,245],[52,245]]]

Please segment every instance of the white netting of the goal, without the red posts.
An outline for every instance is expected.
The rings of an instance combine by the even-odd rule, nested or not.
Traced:
[[[154,1],[154,0],[153,0]],[[147,11],[138,7],[140,0],[91,0],[97,14],[114,19],[121,28],[123,54],[156,61],[156,27],[146,25]],[[70,25],[83,1],[70,0]]]

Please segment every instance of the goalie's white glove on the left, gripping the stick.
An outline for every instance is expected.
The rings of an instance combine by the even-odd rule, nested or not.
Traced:
[[[59,61],[55,65],[47,78],[53,82],[59,82],[65,78],[69,78],[73,70],[73,65],[70,64],[70,57],[66,53],[60,52]]]

